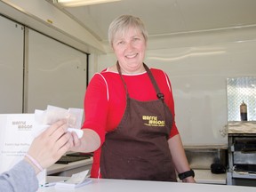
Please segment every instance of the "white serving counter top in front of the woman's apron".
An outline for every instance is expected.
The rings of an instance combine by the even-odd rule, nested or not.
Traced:
[[[91,179],[92,182],[76,189],[65,191],[73,192],[156,192],[156,191],[182,191],[182,192],[255,192],[255,188],[212,184],[195,184],[180,182],[143,181],[143,180],[107,180]],[[64,191],[53,187],[39,188],[38,192]]]

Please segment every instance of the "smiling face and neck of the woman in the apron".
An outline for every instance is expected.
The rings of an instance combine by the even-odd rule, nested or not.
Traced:
[[[145,57],[146,41],[140,30],[129,28],[114,36],[113,49],[116,58],[124,73],[140,73],[144,71],[143,60]]]

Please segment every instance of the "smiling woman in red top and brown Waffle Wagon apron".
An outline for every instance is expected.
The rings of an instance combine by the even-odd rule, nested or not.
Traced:
[[[94,151],[92,177],[195,182],[174,122],[168,76],[143,60],[148,34],[123,15],[108,28],[116,65],[92,77],[84,99],[84,137],[75,151]]]

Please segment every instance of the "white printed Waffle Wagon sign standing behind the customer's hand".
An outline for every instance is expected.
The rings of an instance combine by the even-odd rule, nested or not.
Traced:
[[[34,114],[0,114],[0,173],[24,158],[37,129]],[[37,179],[44,184],[46,171],[37,174]]]

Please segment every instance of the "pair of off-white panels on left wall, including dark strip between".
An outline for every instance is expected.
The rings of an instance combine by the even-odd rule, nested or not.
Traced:
[[[84,108],[87,54],[0,15],[0,113]]]

